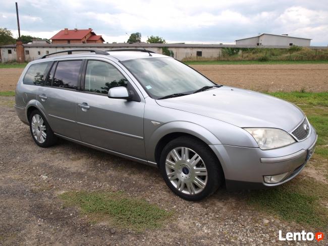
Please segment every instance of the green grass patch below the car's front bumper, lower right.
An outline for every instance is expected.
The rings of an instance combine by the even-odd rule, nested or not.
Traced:
[[[273,213],[288,222],[328,229],[328,185],[312,178],[296,178],[281,187],[252,191],[248,204],[255,209]]]

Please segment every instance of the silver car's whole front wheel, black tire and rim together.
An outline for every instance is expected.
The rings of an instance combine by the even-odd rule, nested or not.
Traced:
[[[189,136],[174,139],[164,147],[159,168],[168,187],[188,201],[212,195],[224,180],[221,164],[211,149]]]

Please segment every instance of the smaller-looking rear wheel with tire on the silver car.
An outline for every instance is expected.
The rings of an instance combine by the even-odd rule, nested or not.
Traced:
[[[31,112],[29,122],[32,138],[38,146],[46,148],[56,144],[57,137],[39,110],[35,109]]]

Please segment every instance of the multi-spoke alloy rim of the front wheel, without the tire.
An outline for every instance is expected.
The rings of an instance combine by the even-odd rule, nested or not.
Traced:
[[[167,155],[165,168],[169,180],[181,193],[194,195],[206,187],[205,163],[192,149],[178,147],[171,150]]]

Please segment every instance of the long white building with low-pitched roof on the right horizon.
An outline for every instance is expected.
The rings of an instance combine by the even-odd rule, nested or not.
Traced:
[[[288,34],[276,35],[262,33],[255,37],[238,39],[236,45],[264,45],[264,46],[310,46],[310,38],[291,37]]]

